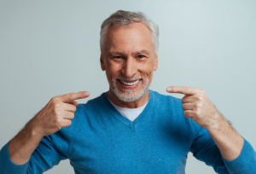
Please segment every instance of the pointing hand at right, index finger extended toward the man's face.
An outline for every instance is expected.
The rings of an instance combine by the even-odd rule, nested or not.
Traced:
[[[223,119],[204,90],[185,86],[171,86],[166,91],[185,95],[182,98],[184,115],[186,118],[193,119],[201,127],[210,129],[211,126]]]

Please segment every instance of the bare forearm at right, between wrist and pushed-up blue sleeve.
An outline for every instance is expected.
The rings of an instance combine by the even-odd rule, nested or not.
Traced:
[[[218,146],[224,159],[233,160],[241,154],[244,140],[223,116],[219,114],[219,119],[212,122],[212,125],[207,128],[207,131],[212,136],[212,140]]]

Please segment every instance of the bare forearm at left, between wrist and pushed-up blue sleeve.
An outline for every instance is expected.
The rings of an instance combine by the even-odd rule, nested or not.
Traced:
[[[9,156],[12,162],[16,165],[24,165],[30,159],[42,138],[32,128],[32,124],[27,123],[25,128],[9,142]]]

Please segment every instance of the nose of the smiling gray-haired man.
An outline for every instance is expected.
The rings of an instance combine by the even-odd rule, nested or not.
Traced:
[[[133,57],[129,56],[125,60],[123,73],[127,78],[131,78],[137,73],[137,61]]]

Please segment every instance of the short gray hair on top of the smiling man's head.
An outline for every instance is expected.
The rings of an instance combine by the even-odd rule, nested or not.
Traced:
[[[101,26],[101,51],[104,52],[104,44],[107,38],[108,28],[110,26],[128,26],[131,22],[142,22],[145,26],[148,27],[152,34],[153,43],[154,43],[154,52],[157,53],[159,42],[159,29],[158,26],[154,24],[153,21],[148,20],[146,15],[143,12],[131,12],[131,11],[124,11],[118,10],[117,12],[111,14],[106,20],[102,22]]]

